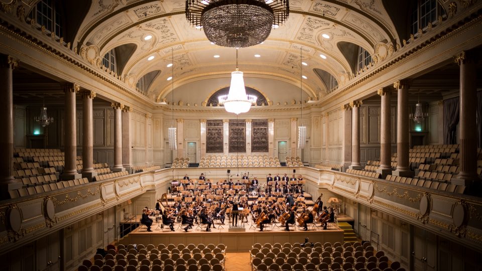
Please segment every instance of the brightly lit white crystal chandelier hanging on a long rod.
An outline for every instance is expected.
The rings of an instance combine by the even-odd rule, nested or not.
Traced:
[[[229,93],[218,97],[219,105],[224,105],[224,109],[230,113],[246,113],[250,110],[251,105],[256,104],[258,97],[255,95],[246,95],[245,81],[243,80],[243,72],[237,67],[237,49],[236,49],[236,71],[231,72],[231,85]]]

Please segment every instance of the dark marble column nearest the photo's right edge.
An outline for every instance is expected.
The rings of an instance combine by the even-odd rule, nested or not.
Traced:
[[[471,186],[480,183],[477,177],[477,57],[462,52],[455,58],[460,66],[460,172],[452,178],[455,185]],[[469,194],[479,194],[468,191]]]

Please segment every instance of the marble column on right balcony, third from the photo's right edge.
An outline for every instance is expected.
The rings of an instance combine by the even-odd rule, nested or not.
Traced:
[[[390,96],[391,91],[387,88],[380,88],[377,91],[381,97],[381,120],[380,120],[380,167],[377,172],[385,179],[387,175],[392,174],[392,133],[390,113]]]

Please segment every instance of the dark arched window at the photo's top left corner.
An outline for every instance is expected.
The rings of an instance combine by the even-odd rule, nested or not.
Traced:
[[[54,32],[55,36],[63,37],[63,22],[61,6],[58,0],[40,0],[29,14],[29,19],[34,19],[38,25],[45,26],[49,32]]]

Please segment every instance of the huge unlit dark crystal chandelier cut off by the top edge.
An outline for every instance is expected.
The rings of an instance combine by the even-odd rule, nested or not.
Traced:
[[[186,0],[187,20],[225,47],[262,43],[289,13],[289,0]]]

